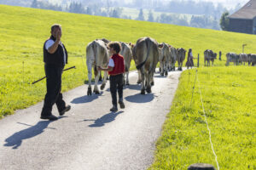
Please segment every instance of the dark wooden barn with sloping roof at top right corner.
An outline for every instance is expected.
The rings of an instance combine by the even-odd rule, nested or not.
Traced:
[[[256,0],[251,0],[234,14],[230,14],[228,31],[256,34]]]

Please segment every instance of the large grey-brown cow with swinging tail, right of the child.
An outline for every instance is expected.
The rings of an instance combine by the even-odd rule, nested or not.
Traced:
[[[139,38],[132,50],[133,59],[140,71],[142,79],[141,94],[151,93],[151,85],[154,85],[154,69],[159,61],[158,42],[151,37]]]

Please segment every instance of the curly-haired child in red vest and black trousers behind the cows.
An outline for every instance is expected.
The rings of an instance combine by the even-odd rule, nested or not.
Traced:
[[[110,42],[108,43],[108,48],[110,53],[112,54],[109,59],[108,69],[103,69],[100,66],[98,70],[100,71],[108,71],[108,75],[110,75],[110,92],[112,97],[113,107],[110,111],[118,111],[117,107],[117,91],[119,94],[119,105],[121,109],[125,108],[125,104],[123,101],[123,83],[124,83],[124,73],[125,73],[125,60],[122,55],[119,54],[121,50],[121,45],[119,42]]]

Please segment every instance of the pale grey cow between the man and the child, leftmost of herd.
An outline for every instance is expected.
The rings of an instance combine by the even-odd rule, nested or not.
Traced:
[[[94,68],[95,75],[95,85],[93,92],[95,94],[100,94],[100,91],[97,87],[97,83],[100,76],[100,71],[98,71],[98,66],[107,67],[108,66],[108,49],[106,43],[102,40],[96,39],[93,42],[88,43],[86,47],[86,65],[88,70],[88,78],[89,78],[89,87],[87,91],[87,95],[91,95],[91,76],[92,76],[92,68]],[[102,82],[101,89],[104,89],[106,86],[108,77],[108,72],[104,71],[104,78]]]

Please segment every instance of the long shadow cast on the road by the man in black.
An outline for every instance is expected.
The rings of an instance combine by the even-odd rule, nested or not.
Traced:
[[[61,116],[61,117],[59,117],[59,119],[61,119],[63,117],[65,117],[65,116]],[[29,128],[26,128],[24,130],[21,130],[20,132],[14,133],[8,139],[5,139],[6,144],[3,144],[3,145],[13,147],[13,149],[18,149],[20,147],[20,145],[22,144],[23,140],[31,139],[31,138],[43,133],[44,129],[48,128],[48,125],[50,122],[52,122],[52,121],[40,121],[34,126],[28,125],[26,123],[17,122],[19,124],[29,126]],[[55,128],[50,128],[50,129],[55,129]]]

